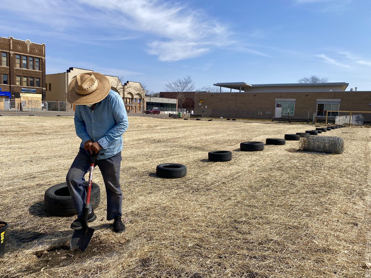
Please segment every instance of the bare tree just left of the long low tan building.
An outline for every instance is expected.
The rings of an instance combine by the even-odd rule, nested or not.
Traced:
[[[165,84],[165,90],[167,92],[174,92],[175,97],[180,102],[180,108],[182,109],[184,100],[193,97],[192,93],[190,93],[194,91],[192,76],[187,75],[186,77],[178,78],[174,81],[168,81]]]

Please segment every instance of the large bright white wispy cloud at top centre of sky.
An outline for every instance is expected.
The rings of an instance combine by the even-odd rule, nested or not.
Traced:
[[[230,44],[226,24],[210,19],[201,10],[158,0],[79,0],[109,13],[115,24],[154,36],[148,53],[160,61],[177,61],[200,56],[213,47]]]

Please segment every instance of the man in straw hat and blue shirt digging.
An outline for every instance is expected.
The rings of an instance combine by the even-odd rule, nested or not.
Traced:
[[[98,153],[96,165],[101,170],[107,193],[107,220],[114,219],[114,231],[124,232],[121,221],[122,193],[120,164],[122,134],[128,128],[128,116],[121,96],[111,90],[107,77],[101,73],[81,73],[68,85],[67,101],[76,105],[75,129],[81,138],[79,152],[73,160],[66,181],[77,211],[71,228],[83,228],[86,191],[83,183],[89,172],[89,155]],[[96,219],[89,205],[88,222]]]

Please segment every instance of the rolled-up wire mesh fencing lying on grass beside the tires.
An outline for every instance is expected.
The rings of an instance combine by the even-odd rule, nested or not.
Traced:
[[[325,152],[340,154],[344,152],[344,140],[336,136],[308,135],[300,138],[299,149],[308,152]]]

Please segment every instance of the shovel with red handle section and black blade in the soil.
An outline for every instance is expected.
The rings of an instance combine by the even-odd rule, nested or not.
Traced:
[[[89,214],[89,203],[90,203],[90,192],[92,189],[92,179],[93,179],[93,169],[95,159],[98,156],[98,153],[93,153],[90,155],[90,169],[89,169],[89,182],[88,182],[88,189],[86,191],[86,202],[85,202],[85,210],[84,210],[84,218],[82,223],[82,228],[79,230],[75,230],[72,235],[71,239],[71,250],[80,249],[82,252],[88,248],[89,242],[92,239],[94,229],[88,226],[88,214]]]

